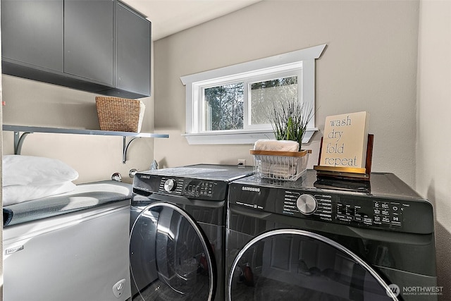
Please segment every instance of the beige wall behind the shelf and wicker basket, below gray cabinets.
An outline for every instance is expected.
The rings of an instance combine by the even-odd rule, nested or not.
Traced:
[[[99,129],[97,94],[4,75],[4,124],[54,128]],[[146,106],[142,132],[154,131],[152,97]],[[129,140],[130,138],[128,138]],[[33,133],[24,140],[22,154],[60,159],[80,174],[75,183],[108,180],[115,172],[131,183],[131,168],[147,170],[153,160],[154,139],[140,138],[130,144],[127,162],[122,163],[123,139],[119,136]],[[4,154],[13,154],[13,132],[4,132]]]

